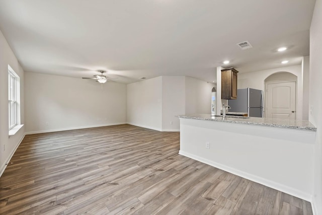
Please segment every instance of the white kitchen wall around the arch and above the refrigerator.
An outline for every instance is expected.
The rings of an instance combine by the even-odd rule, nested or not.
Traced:
[[[238,82],[237,88],[254,88],[258,90],[263,90],[265,88],[264,81],[267,77],[274,73],[278,73],[280,71],[286,71],[297,76],[297,102],[296,102],[296,118],[302,119],[302,66],[294,65],[294,66],[285,66],[274,69],[267,69],[261,71],[254,71],[252,73],[238,73]],[[265,93],[264,93],[265,95]]]

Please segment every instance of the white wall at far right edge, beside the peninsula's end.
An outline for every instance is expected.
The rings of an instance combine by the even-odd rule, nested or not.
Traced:
[[[313,205],[322,214],[322,0],[316,0],[310,28],[309,120],[317,127],[314,150]]]

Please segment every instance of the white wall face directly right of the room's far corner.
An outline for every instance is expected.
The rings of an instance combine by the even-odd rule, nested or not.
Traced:
[[[162,130],[162,77],[127,85],[127,122]]]

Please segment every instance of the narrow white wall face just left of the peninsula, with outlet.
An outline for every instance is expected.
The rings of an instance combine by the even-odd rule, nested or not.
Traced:
[[[162,130],[180,131],[176,115],[185,114],[185,77],[162,77]]]

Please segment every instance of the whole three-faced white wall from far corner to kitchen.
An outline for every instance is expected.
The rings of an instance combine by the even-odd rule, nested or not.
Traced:
[[[128,84],[127,122],[154,130],[179,131],[176,115],[211,114],[214,86],[185,76],[160,76]]]

